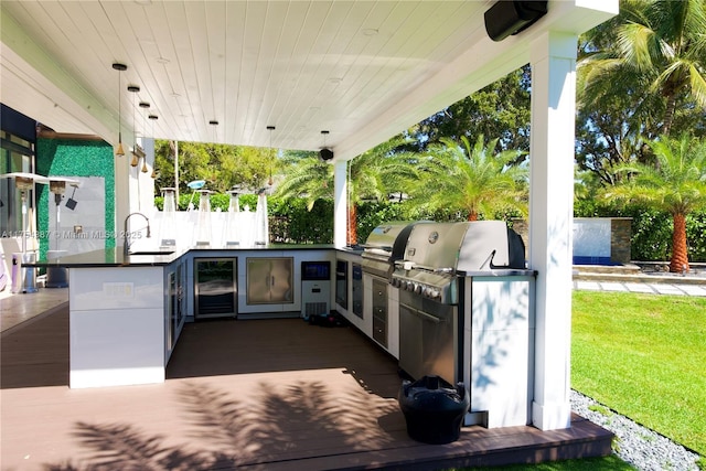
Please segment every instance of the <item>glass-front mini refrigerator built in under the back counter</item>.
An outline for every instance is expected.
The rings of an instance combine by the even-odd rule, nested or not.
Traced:
[[[194,258],[194,317],[237,315],[237,258]]]

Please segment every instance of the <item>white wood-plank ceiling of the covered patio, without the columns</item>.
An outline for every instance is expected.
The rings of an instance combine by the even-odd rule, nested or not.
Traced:
[[[528,63],[547,31],[579,34],[617,2],[552,0],[501,42],[485,31],[494,3],[3,0],[1,99],[111,143],[121,128],[127,142],[136,130],[318,150],[328,130],[334,160],[349,160]]]

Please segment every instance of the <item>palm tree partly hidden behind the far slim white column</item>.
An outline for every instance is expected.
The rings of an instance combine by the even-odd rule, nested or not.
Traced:
[[[410,154],[397,152],[409,140],[398,136],[349,161],[349,217],[346,243],[357,243],[356,204],[365,200],[387,200],[403,181],[415,174]],[[299,159],[286,172],[277,190],[281,197],[304,197],[309,211],[319,199],[333,199],[333,165],[318,157]]]

